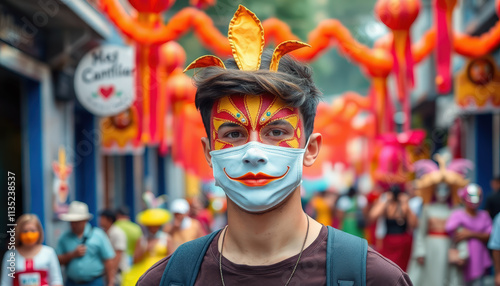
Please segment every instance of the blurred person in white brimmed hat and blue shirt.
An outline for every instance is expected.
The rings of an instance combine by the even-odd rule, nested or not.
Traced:
[[[115,252],[106,233],[90,225],[93,215],[86,203],[73,201],[68,212],[60,215],[62,221],[70,223],[71,229],[61,235],[57,242],[59,263],[66,267],[65,286],[114,286]]]

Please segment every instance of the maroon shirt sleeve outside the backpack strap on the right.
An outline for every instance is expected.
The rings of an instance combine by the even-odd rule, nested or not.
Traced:
[[[366,285],[412,285],[408,274],[372,248],[366,255]]]

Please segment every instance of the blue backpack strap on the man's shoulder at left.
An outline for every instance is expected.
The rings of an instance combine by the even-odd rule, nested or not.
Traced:
[[[192,286],[198,277],[201,263],[207,249],[219,233],[214,231],[209,235],[186,242],[179,246],[170,257],[161,277],[162,286]]]

